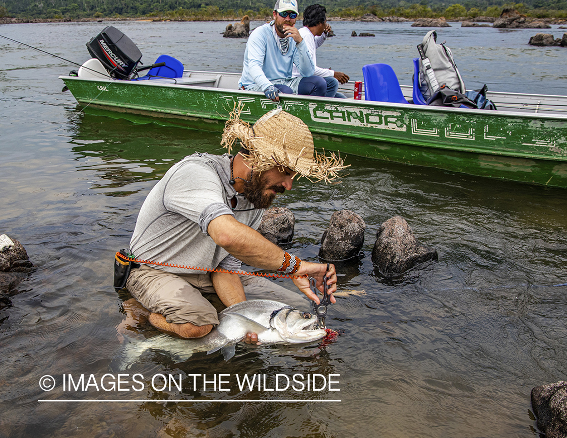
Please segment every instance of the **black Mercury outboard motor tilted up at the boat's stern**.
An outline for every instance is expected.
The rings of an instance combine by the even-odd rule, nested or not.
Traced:
[[[87,49],[116,79],[130,79],[142,58],[142,52],[136,44],[112,26],[105,27],[99,35],[87,42]]]

